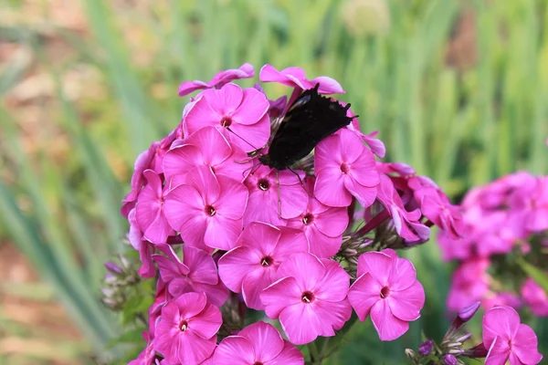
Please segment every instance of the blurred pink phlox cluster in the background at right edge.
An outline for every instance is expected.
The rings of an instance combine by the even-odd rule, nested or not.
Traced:
[[[466,235],[440,235],[445,260],[457,259],[448,308],[480,300],[483,307],[524,303],[548,316],[548,297],[527,273],[541,276],[548,254],[548,177],[516,172],[471,190],[462,203]]]

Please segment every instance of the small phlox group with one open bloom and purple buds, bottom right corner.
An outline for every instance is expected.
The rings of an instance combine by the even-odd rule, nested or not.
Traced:
[[[483,342],[464,349],[464,343],[471,339],[464,325],[474,316],[479,305],[476,302],[458,311],[439,345],[427,339],[419,346],[418,353],[406,349],[407,356],[415,364],[444,365],[464,365],[464,358],[486,358],[486,365],[505,364],[509,360],[511,365],[534,365],[543,360],[532,328],[522,324],[520,315],[508,306],[490,308],[483,316]]]

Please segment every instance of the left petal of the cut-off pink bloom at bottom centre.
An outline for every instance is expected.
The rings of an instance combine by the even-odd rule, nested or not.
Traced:
[[[216,365],[249,365],[255,363],[253,345],[241,336],[223,339],[215,350],[213,362]]]

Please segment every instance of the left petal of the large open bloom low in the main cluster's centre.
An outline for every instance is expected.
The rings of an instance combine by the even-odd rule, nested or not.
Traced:
[[[267,316],[278,318],[283,308],[301,303],[301,293],[294,277],[283,277],[265,288],[259,297],[266,306]]]

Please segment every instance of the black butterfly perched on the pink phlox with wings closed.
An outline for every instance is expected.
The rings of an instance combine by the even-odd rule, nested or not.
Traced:
[[[305,90],[291,104],[270,143],[269,153],[258,161],[276,170],[285,170],[306,157],[321,140],[347,126],[353,117],[347,117],[350,104],[343,107],[337,101],[318,93],[320,84]],[[354,117],[355,118],[355,117]]]

